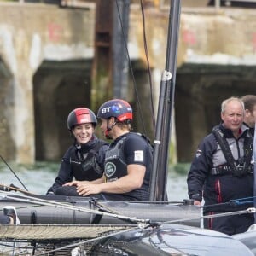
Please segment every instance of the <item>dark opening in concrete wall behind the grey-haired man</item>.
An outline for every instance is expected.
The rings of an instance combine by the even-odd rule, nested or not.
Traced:
[[[177,160],[190,162],[201,139],[218,125],[220,105],[230,96],[255,94],[253,66],[185,64],[177,70]]]

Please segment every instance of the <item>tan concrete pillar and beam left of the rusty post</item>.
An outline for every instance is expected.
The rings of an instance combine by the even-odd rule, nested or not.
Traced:
[[[9,143],[1,143],[6,159],[25,163],[35,160],[37,117],[33,105],[33,76],[43,61],[91,60],[94,16],[93,4],[88,5],[88,9],[61,9],[39,3],[1,3],[0,56],[5,67],[1,70],[1,80],[4,80],[1,85],[6,87],[7,97],[0,106],[3,109],[0,122],[1,137],[9,137]],[[49,83],[56,81],[49,80]],[[46,96],[49,97],[50,91],[45,92]],[[54,131],[52,125],[48,129]]]

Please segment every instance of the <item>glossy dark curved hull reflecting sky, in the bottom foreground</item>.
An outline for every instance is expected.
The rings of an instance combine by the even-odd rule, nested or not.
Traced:
[[[255,238],[255,232],[244,236]],[[216,231],[161,224],[157,229],[134,230],[98,241],[90,255],[253,256],[253,250],[255,246],[250,250],[241,241]]]

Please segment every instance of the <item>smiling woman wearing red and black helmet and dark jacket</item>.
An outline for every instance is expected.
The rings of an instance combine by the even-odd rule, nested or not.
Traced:
[[[97,138],[96,115],[89,108],[75,108],[67,117],[73,145],[64,154],[55,183],[47,195],[78,195],[75,187],[62,185],[75,180],[92,181],[102,177],[108,143]]]

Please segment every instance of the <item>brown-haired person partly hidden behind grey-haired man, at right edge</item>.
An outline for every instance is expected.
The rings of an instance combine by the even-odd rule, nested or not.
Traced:
[[[246,95],[241,97],[244,102],[245,117],[244,122],[249,126],[252,135],[256,122],[256,95]]]

